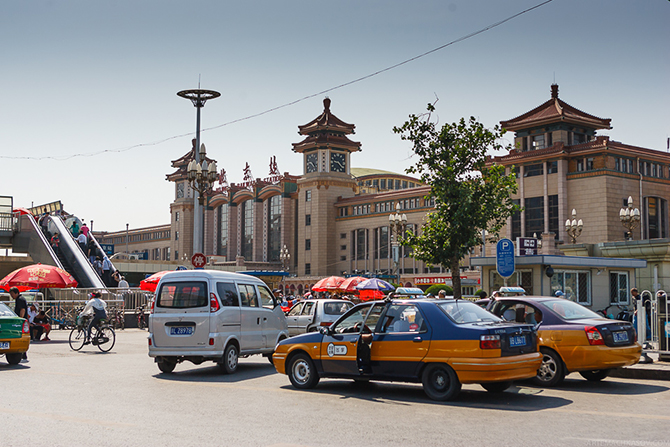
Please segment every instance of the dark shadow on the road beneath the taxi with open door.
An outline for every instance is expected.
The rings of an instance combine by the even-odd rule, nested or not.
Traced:
[[[291,385],[285,389],[294,389]],[[452,407],[484,408],[504,411],[540,411],[548,408],[560,408],[572,403],[569,399],[543,395],[543,390],[512,386],[503,393],[489,393],[483,388],[463,389],[453,400],[438,402],[431,400],[420,385],[369,382],[352,383],[342,380],[322,381],[311,392],[318,394],[337,394],[341,399],[359,399],[388,405],[411,405],[414,403],[448,405]]]

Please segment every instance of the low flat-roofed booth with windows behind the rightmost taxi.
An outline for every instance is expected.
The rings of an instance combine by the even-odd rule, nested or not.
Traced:
[[[644,259],[587,256],[515,256],[514,272],[507,279],[496,270],[495,257],[470,258],[482,272],[482,289],[489,296],[503,286],[520,286],[527,295],[564,298],[592,310],[630,305],[630,289],[636,287],[635,269],[647,266]]]

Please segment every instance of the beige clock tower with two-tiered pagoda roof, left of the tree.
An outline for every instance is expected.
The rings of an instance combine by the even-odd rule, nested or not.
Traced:
[[[351,141],[356,128],[330,111],[330,99],[323,100],[323,112],[309,123],[298,126],[305,139],[293,144],[302,154],[304,175],[298,180],[297,266],[298,275],[326,276],[339,274],[332,270],[342,244],[335,230],[335,203],[353,197],[356,181],[351,176],[350,155],[361,150],[361,143]],[[346,236],[345,236],[346,238]]]

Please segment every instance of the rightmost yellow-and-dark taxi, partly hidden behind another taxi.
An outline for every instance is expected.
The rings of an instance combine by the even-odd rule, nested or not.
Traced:
[[[572,372],[600,381],[614,368],[634,365],[642,354],[631,323],[604,318],[574,301],[508,296],[491,301],[489,309],[504,320],[536,325],[542,365],[533,380],[541,386],[557,385]]]

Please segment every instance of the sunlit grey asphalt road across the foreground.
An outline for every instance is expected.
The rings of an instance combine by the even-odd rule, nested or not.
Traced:
[[[467,385],[429,400],[420,385],[322,380],[297,391],[260,356],[234,375],[213,363],[160,374],[146,332],[118,331],[103,354],[65,331],[29,361],[0,358],[4,446],[670,446],[670,383],[572,374],[555,389],[500,395]]]

